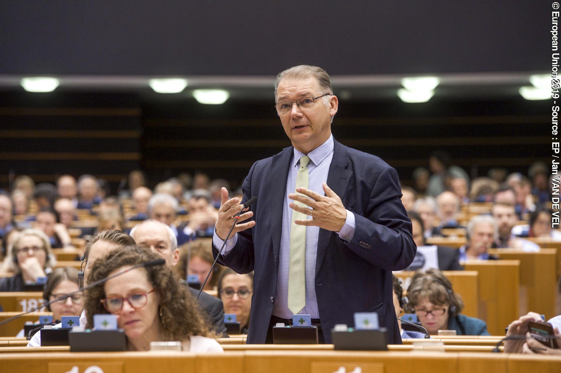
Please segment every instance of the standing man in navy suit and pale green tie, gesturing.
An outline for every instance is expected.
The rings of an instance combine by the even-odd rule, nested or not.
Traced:
[[[323,69],[281,72],[275,102],[293,146],[251,167],[243,201],[259,201],[229,237],[243,206],[222,189],[213,238],[214,255],[227,240],[220,263],[255,271],[248,343],[272,342],[273,325],[295,314],[310,314],[330,343],[356,312],[378,313],[388,343],[401,342],[391,271],[407,268],[416,246],[396,170],[333,139],[338,100]]]

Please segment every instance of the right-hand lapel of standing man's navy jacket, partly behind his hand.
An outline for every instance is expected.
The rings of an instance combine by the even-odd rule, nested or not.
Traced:
[[[329,165],[327,185],[339,196],[339,198],[341,198],[341,201],[344,201],[347,185],[353,174],[351,170],[347,169],[349,163],[350,161],[347,156],[346,147],[333,139],[333,158],[331,160],[331,165]],[[336,235],[336,233],[325,229],[319,230],[318,254],[316,257],[315,268],[316,276],[318,276],[319,268],[321,267],[321,263],[325,257],[329,240],[333,235]]]

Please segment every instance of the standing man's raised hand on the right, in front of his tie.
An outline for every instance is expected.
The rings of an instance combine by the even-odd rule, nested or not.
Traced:
[[[328,231],[338,232],[347,221],[347,210],[341,202],[341,198],[327,183],[323,183],[325,195],[319,195],[310,189],[296,188],[296,192],[306,195],[291,193],[288,198],[302,202],[308,207],[302,207],[296,203],[289,204],[290,208],[305,215],[311,215],[311,219],[295,220],[297,225],[316,226]],[[308,198],[310,197],[310,198]]]

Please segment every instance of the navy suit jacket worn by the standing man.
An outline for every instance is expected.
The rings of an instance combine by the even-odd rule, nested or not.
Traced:
[[[259,199],[251,211],[256,224],[238,234],[236,246],[220,263],[237,273],[254,273],[247,343],[265,343],[277,292],[280,235],[286,180],[293,147],[255,162],[243,186],[243,201]],[[356,312],[378,313],[388,343],[401,343],[393,307],[392,271],[411,264],[416,246],[411,221],[401,203],[396,170],[380,158],[334,141],[329,187],[355,215],[350,243],[320,229],[315,291],[325,342],[335,324],[353,326]],[[249,221],[249,220],[248,220]],[[213,248],[214,255],[219,248]]]

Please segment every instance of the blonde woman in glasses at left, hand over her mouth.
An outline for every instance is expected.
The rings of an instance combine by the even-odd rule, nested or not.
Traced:
[[[0,291],[23,291],[25,283],[47,277],[55,263],[47,235],[38,229],[21,231],[2,264],[1,272],[11,272],[13,276],[0,278]]]

